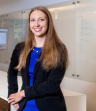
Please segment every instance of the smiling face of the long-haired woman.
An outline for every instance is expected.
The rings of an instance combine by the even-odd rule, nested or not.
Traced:
[[[47,15],[40,11],[35,10],[30,14],[30,30],[35,37],[46,37],[48,29]]]

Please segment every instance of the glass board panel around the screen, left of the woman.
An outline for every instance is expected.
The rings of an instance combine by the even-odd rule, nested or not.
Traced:
[[[14,47],[23,40],[22,12],[1,15],[0,29],[8,29],[7,49],[0,49],[0,63],[9,64]]]

